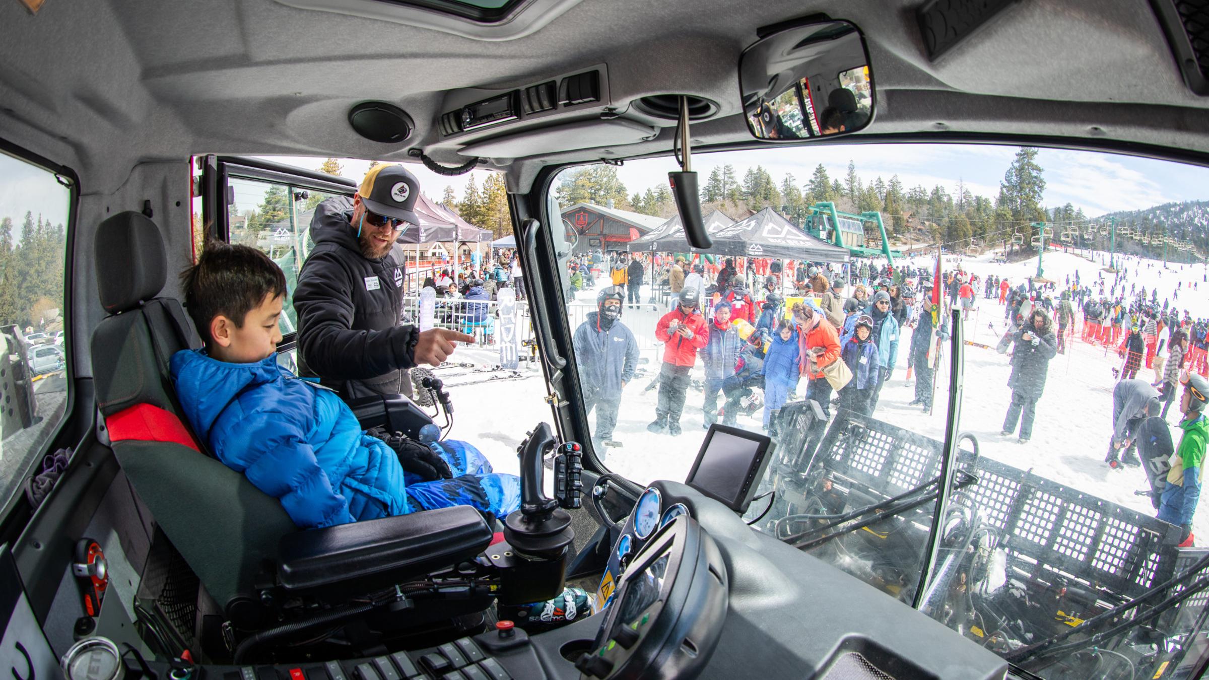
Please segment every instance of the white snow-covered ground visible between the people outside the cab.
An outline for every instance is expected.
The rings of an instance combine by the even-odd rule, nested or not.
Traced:
[[[997,275],[1008,277],[1013,284],[1036,272],[1036,259],[1011,265],[994,264],[993,255],[978,259],[949,258],[944,269],[954,269],[958,264],[970,272],[982,277]],[[1106,254],[1093,253],[1092,259],[1074,253],[1047,253],[1045,255],[1045,276],[1058,282],[1058,289],[1065,288],[1066,276],[1074,280],[1080,272],[1086,284],[1100,275]],[[906,263],[931,269],[932,258],[908,259]],[[1145,286],[1149,290],[1158,287],[1159,304],[1170,298],[1178,282],[1184,282],[1178,307],[1187,309],[1194,318],[1209,316],[1209,283],[1205,283],[1204,265],[1168,264],[1126,258],[1124,270],[1129,282]],[[1105,273],[1106,278],[1111,275]],[[1196,282],[1198,290],[1191,290]],[[601,283],[603,286],[603,282]],[[642,299],[647,299],[643,289]],[[578,301],[594,304],[595,290],[582,292]],[[681,425],[684,428],[679,437],[652,434],[646,426],[654,420],[658,388],[646,390],[659,373],[663,357],[661,347],[655,345],[652,335],[655,322],[666,311],[643,305],[643,309],[625,309],[621,321],[638,336],[646,361],[640,369],[643,371],[626,387],[625,397],[618,416],[614,439],[623,446],[608,448],[606,465],[635,482],[647,484],[655,479],[682,480],[687,476],[705,430],[702,428],[700,388],[689,388],[684,415]],[[1080,322],[1081,322],[1080,315]],[[988,324],[995,327],[993,332]],[[967,340],[995,345],[1005,328],[1003,307],[995,300],[982,299],[980,292],[976,310],[971,312],[965,325]],[[1146,488],[1145,473],[1136,467],[1111,469],[1104,463],[1112,421],[1112,368],[1121,364],[1115,352],[1105,353],[1100,346],[1091,346],[1077,340],[1065,355],[1058,355],[1049,364],[1045,394],[1037,404],[1037,419],[1034,425],[1032,439],[1018,444],[1017,438],[1001,437],[1003,415],[1011,399],[1007,387],[1010,367],[1007,357],[994,350],[968,346],[964,347],[965,385],[960,411],[960,428],[972,432],[979,440],[982,454],[994,460],[1032,469],[1035,474],[1048,477],[1054,482],[1072,486],[1080,491],[1094,494],[1101,499],[1153,514],[1150,500],[1134,495],[1138,489]],[[914,387],[906,386],[907,350],[910,341],[909,332],[901,340],[897,368],[893,376],[883,388],[881,398],[874,416],[899,427],[936,439],[943,438],[945,413],[943,404],[948,402],[948,370],[942,369],[937,376],[936,404],[931,416],[921,413],[918,407],[909,407],[914,398]],[[476,364],[494,364],[498,358],[491,348],[459,348],[451,361],[473,362]],[[438,371],[455,374],[458,369]],[[475,380],[482,374],[450,376],[446,382]],[[1155,380],[1153,371],[1143,369],[1139,378]],[[700,362],[693,370],[693,378],[701,380],[704,371]],[[539,374],[523,380],[486,381],[475,385],[455,386],[450,390],[456,408],[455,425],[451,436],[474,442],[492,460],[501,472],[516,472],[516,446],[539,421],[553,422],[550,407],[544,400],[545,388]],[[721,397],[719,397],[721,402]],[[1172,437],[1179,442],[1180,430],[1175,423],[1180,420],[1173,404],[1168,414],[1172,423]],[[595,415],[591,417],[595,426]],[[758,428],[758,419],[739,419],[740,427]],[[1202,503],[1197,509],[1193,531],[1198,542],[1209,540],[1209,503]],[[1199,538],[1203,537],[1203,538]]]

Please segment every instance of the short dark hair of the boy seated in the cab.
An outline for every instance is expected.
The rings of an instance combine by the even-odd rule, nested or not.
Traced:
[[[209,241],[197,264],[180,273],[185,309],[202,341],[209,345],[210,322],[222,315],[237,328],[272,294],[285,294],[285,273],[265,253],[249,246]]]

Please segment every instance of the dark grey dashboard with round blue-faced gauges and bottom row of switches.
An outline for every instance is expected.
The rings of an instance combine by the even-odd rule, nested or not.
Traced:
[[[661,480],[643,490],[613,544],[613,558],[601,584],[604,588],[612,581],[602,609],[545,633],[528,635],[501,622],[496,630],[436,647],[288,665],[172,668],[155,662],[143,670],[127,657],[126,675],[175,680],[733,679],[759,669],[765,678],[990,680],[1007,673],[1007,663],[993,652],[857,578],[752,530],[735,511],[686,484]],[[83,668],[97,659],[77,663]]]

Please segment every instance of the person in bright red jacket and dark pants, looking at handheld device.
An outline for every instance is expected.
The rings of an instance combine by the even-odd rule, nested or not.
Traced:
[[[679,306],[655,324],[655,340],[664,342],[664,364],[659,369],[659,402],[655,421],[647,426],[649,432],[679,434],[679,416],[684,410],[684,393],[688,391],[688,373],[696,363],[696,351],[710,341],[705,317],[700,312],[701,292],[696,288],[681,290]]]

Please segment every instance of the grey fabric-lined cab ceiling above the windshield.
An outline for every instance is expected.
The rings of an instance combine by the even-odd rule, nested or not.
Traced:
[[[507,87],[606,63],[614,104],[692,93],[722,104],[695,140],[747,143],[736,64],[756,29],[814,12],[869,41],[878,114],[868,133],[1019,133],[1209,151],[1209,100],[1184,86],[1141,0],[1023,0],[931,63],[920,2],[583,0],[532,35],[479,41],[274,0],[0,1],[0,137],[111,192],[139,162],[191,154],[411,160],[436,142],[446,91]],[[348,109],[383,99],[417,128],[403,146],[355,136]],[[669,123],[670,125],[670,123]],[[654,140],[617,149],[642,155]],[[525,188],[544,163],[511,163]],[[436,160],[464,159],[447,150]]]

